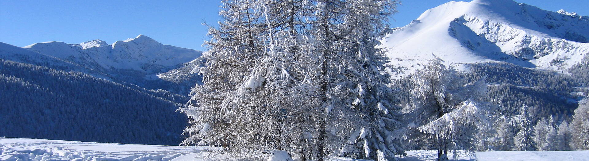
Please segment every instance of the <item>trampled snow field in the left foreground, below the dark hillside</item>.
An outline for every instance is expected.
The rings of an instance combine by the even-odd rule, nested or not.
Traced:
[[[0,138],[0,160],[198,160],[205,147]]]

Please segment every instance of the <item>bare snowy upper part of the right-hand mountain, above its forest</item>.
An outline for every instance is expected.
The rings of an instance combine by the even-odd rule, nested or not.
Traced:
[[[566,70],[589,53],[589,17],[511,0],[448,2],[425,11],[382,41],[393,67],[434,57],[448,63],[507,62]],[[405,75],[399,74],[399,75]]]

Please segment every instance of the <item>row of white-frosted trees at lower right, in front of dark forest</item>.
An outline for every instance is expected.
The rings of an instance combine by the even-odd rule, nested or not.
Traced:
[[[534,114],[527,109],[522,106],[520,114],[498,117],[493,128],[482,133],[479,150],[589,150],[589,102],[580,104],[572,121],[560,123],[552,116],[532,123]]]

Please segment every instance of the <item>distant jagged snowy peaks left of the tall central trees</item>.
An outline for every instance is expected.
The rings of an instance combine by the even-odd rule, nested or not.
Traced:
[[[164,73],[201,55],[201,51],[164,45],[145,35],[117,41],[111,45],[102,40],[80,44],[49,41],[24,48],[88,67],[137,70],[147,74]]]

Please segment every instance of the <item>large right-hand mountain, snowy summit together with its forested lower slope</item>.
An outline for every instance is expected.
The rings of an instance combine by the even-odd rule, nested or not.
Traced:
[[[452,1],[388,32],[381,42],[401,103],[411,103],[407,76],[435,57],[469,81],[487,77],[491,121],[524,105],[534,123],[567,120],[587,97],[589,17],[511,0]]]

